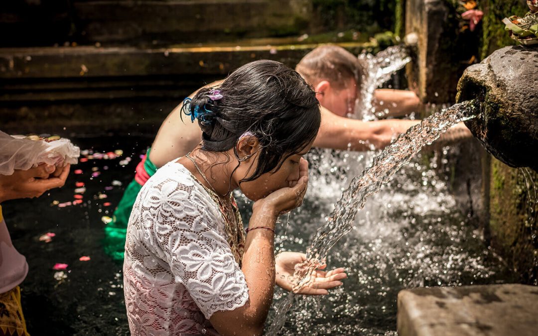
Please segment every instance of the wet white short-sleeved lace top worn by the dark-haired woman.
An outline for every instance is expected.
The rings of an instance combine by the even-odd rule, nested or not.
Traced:
[[[123,271],[132,335],[217,334],[211,315],[249,297],[218,205],[176,162],[157,170],[138,194]]]

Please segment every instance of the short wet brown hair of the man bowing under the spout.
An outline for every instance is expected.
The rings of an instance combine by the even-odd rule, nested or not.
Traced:
[[[364,75],[364,66],[357,56],[335,45],[315,48],[301,59],[295,70],[310,84],[328,81],[338,90],[344,89],[350,79],[355,80],[359,90]]]

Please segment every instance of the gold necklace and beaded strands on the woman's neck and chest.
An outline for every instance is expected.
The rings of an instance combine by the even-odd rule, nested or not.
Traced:
[[[192,158],[189,154],[190,152],[187,153],[185,157],[191,162],[193,162],[194,168],[196,168],[204,181],[206,181],[206,183],[212,189],[211,190],[207,188],[195,178],[196,182],[198,182],[204,189],[206,189],[211,199],[213,199],[213,202],[215,202],[218,205],[218,208],[221,210],[221,214],[224,219],[224,229],[227,236],[226,241],[228,241],[228,245],[230,245],[233,257],[239,264],[239,267],[241,267],[243,252],[245,248],[245,234],[243,232],[243,220],[241,219],[241,215],[239,213],[239,209],[237,208],[235,198],[233,198],[233,195],[230,192],[230,197],[228,198],[229,204],[225,204],[223,197],[218,196],[217,191],[215,190],[215,188],[213,188],[213,185],[209,183],[206,175],[202,173],[202,169],[200,169],[200,167],[196,164],[194,158]]]

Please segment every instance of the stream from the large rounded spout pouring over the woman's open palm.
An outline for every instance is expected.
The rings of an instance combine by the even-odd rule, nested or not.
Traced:
[[[351,231],[357,212],[363,208],[366,199],[375,194],[381,186],[390,181],[405,163],[416,155],[422,147],[431,144],[442,133],[460,121],[475,117],[477,106],[474,102],[463,102],[435,113],[422,120],[419,125],[411,127],[383,152],[373,159],[372,165],[351,181],[327,223],[321,227],[310,247],[307,249],[307,261],[295,268],[292,278],[295,290],[308,284],[309,275],[320,262],[324,262],[332,246],[346,233]],[[276,306],[276,315],[268,335],[276,335],[286,321],[286,313],[293,305],[295,295],[290,293]]]

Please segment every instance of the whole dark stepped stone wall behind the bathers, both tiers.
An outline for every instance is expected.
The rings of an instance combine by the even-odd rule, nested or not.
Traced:
[[[314,10],[332,8],[332,22],[338,11],[353,20],[362,13],[365,20],[342,27],[375,30],[383,26],[378,17],[392,18],[391,3],[0,2],[0,124],[16,133],[154,133],[184,97],[247,62],[272,59],[294,67],[317,43],[346,41],[342,45],[355,54],[372,46],[371,35],[353,31],[306,37],[314,27],[339,27],[319,26]],[[386,13],[372,15],[376,10]]]

